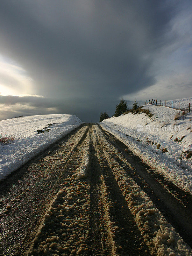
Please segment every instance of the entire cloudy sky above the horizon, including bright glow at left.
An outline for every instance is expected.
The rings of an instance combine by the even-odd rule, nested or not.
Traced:
[[[98,122],[121,97],[192,96],[189,0],[0,0],[0,120]]]

